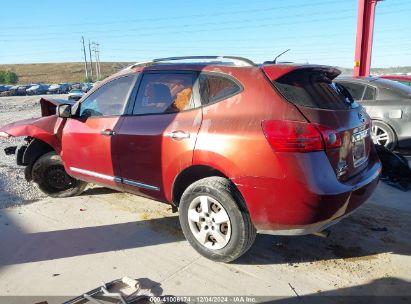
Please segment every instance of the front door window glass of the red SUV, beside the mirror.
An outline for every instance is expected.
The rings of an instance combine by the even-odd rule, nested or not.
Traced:
[[[80,116],[122,115],[134,80],[134,75],[129,75],[106,83],[80,104]]]

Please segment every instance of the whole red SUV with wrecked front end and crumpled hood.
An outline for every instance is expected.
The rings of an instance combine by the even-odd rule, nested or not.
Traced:
[[[48,195],[78,195],[90,182],[167,202],[199,253],[228,262],[256,232],[321,231],[375,189],[370,118],[332,82],[339,73],[238,57],[157,59],[75,104],[42,99],[41,118],[0,135],[27,136],[17,162]]]

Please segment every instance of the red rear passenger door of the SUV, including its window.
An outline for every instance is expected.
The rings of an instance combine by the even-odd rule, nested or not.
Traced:
[[[144,72],[129,115],[115,136],[124,189],[171,200],[176,175],[192,164],[202,121],[197,74]]]

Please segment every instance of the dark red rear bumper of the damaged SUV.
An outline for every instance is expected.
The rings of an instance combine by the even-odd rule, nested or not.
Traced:
[[[337,180],[322,152],[301,155],[282,178],[235,180],[259,233],[303,235],[324,230],[352,213],[378,184],[381,163],[372,153],[368,166],[348,182]],[[291,157],[292,158],[292,157]],[[297,163],[295,163],[297,162]],[[290,165],[293,162],[289,162]],[[291,173],[293,173],[291,175]],[[253,185],[253,186],[250,186]]]

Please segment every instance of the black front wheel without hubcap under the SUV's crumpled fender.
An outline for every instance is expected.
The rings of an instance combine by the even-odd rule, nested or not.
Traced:
[[[63,161],[56,152],[41,156],[33,164],[33,181],[40,190],[51,197],[71,197],[81,194],[87,183],[66,173]]]

